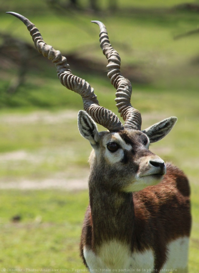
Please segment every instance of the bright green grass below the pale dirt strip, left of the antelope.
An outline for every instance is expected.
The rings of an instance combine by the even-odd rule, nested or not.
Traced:
[[[0,196],[0,270],[84,268],[78,244],[87,192],[1,191]],[[16,215],[21,221],[13,223]]]

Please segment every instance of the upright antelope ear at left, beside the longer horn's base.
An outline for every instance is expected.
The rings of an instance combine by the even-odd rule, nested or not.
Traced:
[[[95,145],[98,142],[99,133],[96,123],[85,111],[82,110],[78,113],[78,128],[81,135],[89,140],[91,145]]]

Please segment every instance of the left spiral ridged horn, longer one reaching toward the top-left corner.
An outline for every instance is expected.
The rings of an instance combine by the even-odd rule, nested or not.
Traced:
[[[94,89],[85,80],[71,73],[69,64],[61,52],[47,45],[39,33],[39,30],[26,17],[15,12],[7,12],[20,19],[26,26],[32,36],[34,45],[39,53],[51,60],[56,68],[60,82],[66,88],[81,95],[84,103],[84,110],[94,119],[94,121],[109,131],[117,131],[124,129],[123,124],[112,111],[99,105]]]

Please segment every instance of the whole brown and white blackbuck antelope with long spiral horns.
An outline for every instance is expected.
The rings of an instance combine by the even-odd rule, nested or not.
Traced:
[[[84,110],[78,127],[90,141],[88,179],[90,204],[84,219],[80,253],[91,270],[187,272],[191,228],[190,188],[184,173],[149,151],[149,144],[166,136],[177,118],[170,117],[141,130],[141,114],[131,106],[131,83],[120,73],[120,57],[112,48],[106,27],[100,27],[100,46],[108,59],[108,77],[115,87],[118,112],[103,108],[93,88],[74,76],[65,57],[47,45],[25,17],[38,51],[56,66],[58,78],[80,94]],[[96,123],[108,131],[98,132]]]

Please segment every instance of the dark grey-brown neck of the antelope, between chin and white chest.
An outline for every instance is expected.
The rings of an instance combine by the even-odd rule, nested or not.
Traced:
[[[132,193],[116,192],[103,187],[106,181],[89,181],[93,242],[119,240],[130,244],[133,236],[134,205]],[[101,182],[101,183],[100,183]]]

